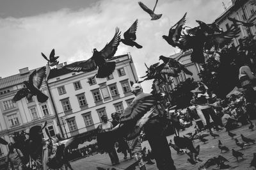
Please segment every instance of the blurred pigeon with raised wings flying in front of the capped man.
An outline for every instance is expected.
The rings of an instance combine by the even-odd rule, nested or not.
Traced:
[[[154,105],[157,104],[159,97],[149,95],[143,97],[127,107],[120,118],[120,124],[108,132],[101,132],[97,134],[97,143],[104,151],[111,149],[116,139],[125,137],[131,140],[140,135],[141,128],[150,118],[154,111]],[[151,109],[153,107],[153,109]],[[151,110],[150,110],[151,109]]]

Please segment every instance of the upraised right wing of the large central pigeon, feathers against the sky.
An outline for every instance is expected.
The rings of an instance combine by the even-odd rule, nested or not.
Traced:
[[[111,59],[115,55],[117,47],[121,40],[120,33],[121,32],[119,32],[119,28],[116,27],[116,32],[112,40],[107,43],[102,50],[100,50],[101,56],[103,56],[105,59]]]

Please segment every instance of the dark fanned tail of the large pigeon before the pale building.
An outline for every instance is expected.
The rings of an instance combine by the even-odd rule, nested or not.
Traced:
[[[96,77],[97,78],[108,77],[111,73],[113,73],[115,71],[115,68],[116,68],[115,61],[106,62],[106,65],[99,67]]]

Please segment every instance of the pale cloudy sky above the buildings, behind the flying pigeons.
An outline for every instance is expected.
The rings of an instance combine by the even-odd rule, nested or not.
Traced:
[[[155,0],[141,0],[153,8]],[[230,0],[159,0],[155,13],[159,20],[150,20],[136,0],[1,0],[0,1],[0,77],[19,73],[20,68],[44,66],[54,48],[60,62],[72,63],[88,59],[93,48],[101,50],[113,38],[115,27],[124,33],[138,19],[136,42],[143,49],[120,43],[116,55],[131,52],[138,75],[145,75],[144,62],[151,65],[159,56],[170,56],[179,49],[166,43],[162,35],[184,13],[186,26],[195,20],[214,21],[228,7]],[[145,92],[151,82],[143,82]]]

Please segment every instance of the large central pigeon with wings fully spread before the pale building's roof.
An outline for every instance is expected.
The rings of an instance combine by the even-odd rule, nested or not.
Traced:
[[[65,66],[65,68],[72,70],[73,72],[88,72],[95,70],[95,66],[98,66],[99,70],[95,76],[97,78],[108,77],[114,72],[116,67],[115,61],[108,61],[108,59],[113,58],[115,55],[120,39],[119,29],[116,28],[113,39],[107,43],[102,50],[98,51],[97,49],[93,49],[92,58],[86,61],[72,63],[71,65]]]

